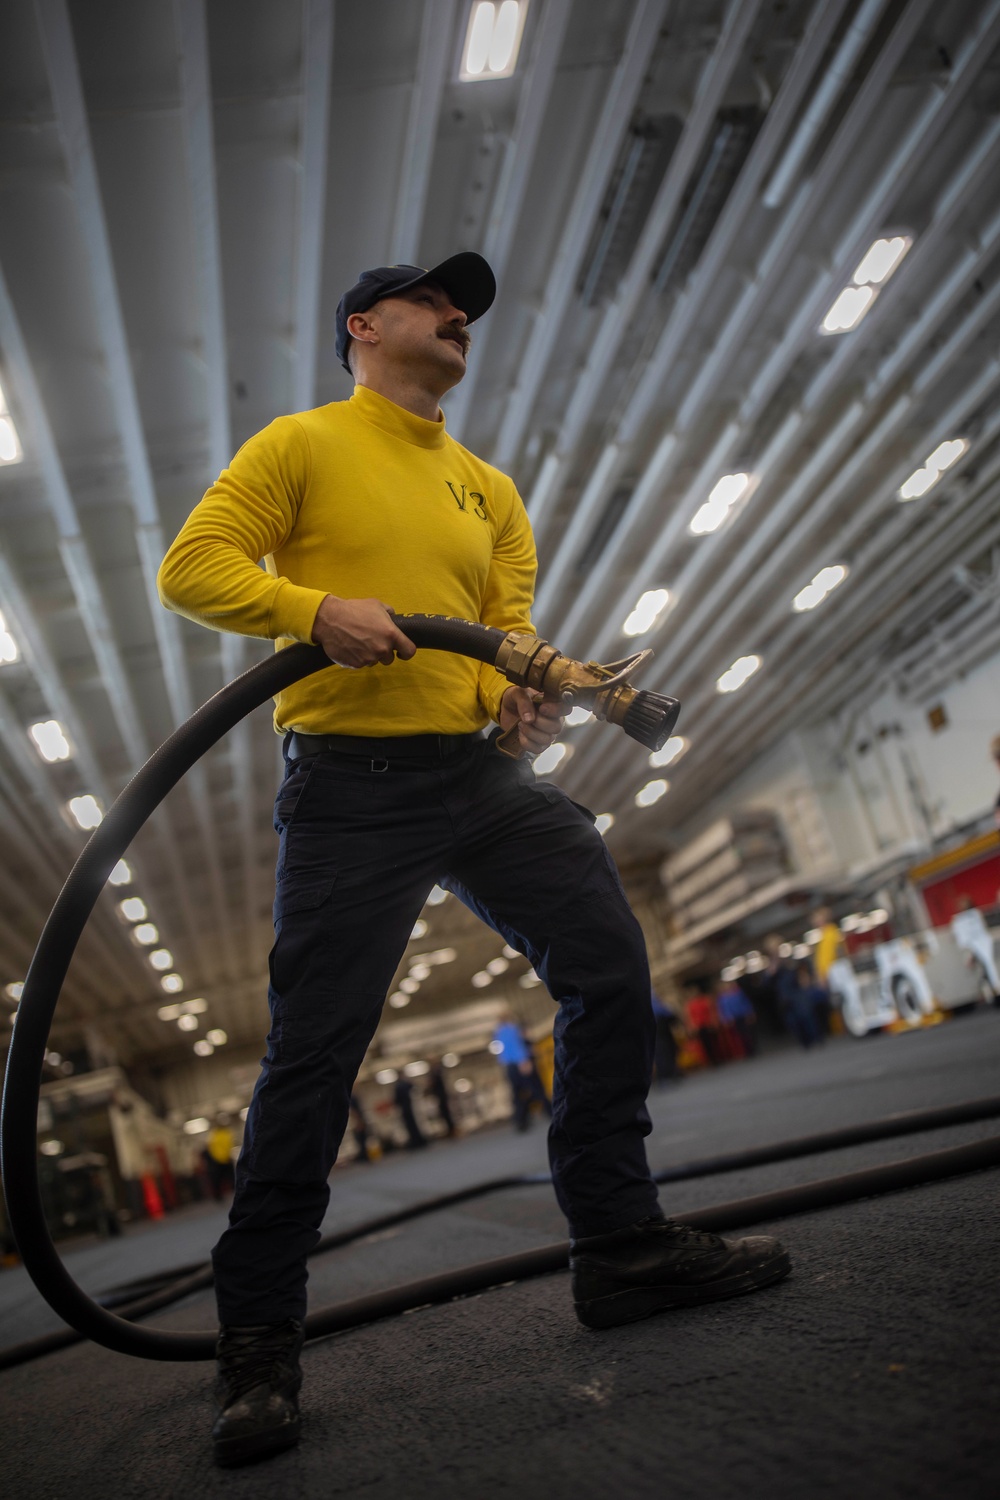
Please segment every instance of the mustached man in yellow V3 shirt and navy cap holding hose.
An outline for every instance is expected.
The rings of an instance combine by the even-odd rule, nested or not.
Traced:
[[[390,615],[531,630],[522,501],[439,408],[493,294],[471,252],[430,272],[363,273],[337,308],[352,398],[250,438],[160,568],[168,608],[279,646],[313,640],[336,663],[274,708],[286,774],[271,1029],[213,1252],[223,1466],[298,1438],[306,1256],[357,1070],[436,882],[519,948],[559,1005],[549,1154],[580,1320],[607,1328],[789,1269],[777,1240],[696,1234],[660,1214],[643,1146],[654,1023],[642,932],[592,816],[484,734],[517,728],[538,753],[562,728],[559,706],[465,657],[415,654]]]

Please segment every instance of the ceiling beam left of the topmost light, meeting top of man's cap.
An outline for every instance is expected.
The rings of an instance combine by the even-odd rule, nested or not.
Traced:
[[[457,0],[424,0],[417,76],[409,99],[403,164],[396,198],[390,262],[417,266],[424,222],[430,166],[438,144],[438,116],[444,94]]]

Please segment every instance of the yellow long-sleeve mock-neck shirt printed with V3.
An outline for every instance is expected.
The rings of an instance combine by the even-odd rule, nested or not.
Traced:
[[[265,572],[258,566],[264,560]],[[310,640],[327,594],[531,630],[535,548],[513,482],[366,386],[250,438],[159,572],[168,609],[216,630]],[[472,734],[507,680],[445,651],[292,684],[279,732]]]

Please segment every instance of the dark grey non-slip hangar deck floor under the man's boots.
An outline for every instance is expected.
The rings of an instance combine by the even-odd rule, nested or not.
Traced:
[[[651,1162],[996,1094],[1000,1011],[813,1053],[781,1052],[655,1092]],[[667,1212],[996,1134],[964,1125],[685,1182]],[[327,1228],[544,1164],[541,1128],[336,1173]],[[997,1173],[787,1220],[793,1276],[756,1296],[607,1334],[552,1275],[319,1341],[303,1356],[303,1446],[213,1468],[207,1365],[88,1344],[0,1376],[3,1490],[45,1500],[363,1496],[364,1500],[996,1500],[1000,1494]],[[67,1260],[106,1287],[202,1256],[219,1210]],[[762,1226],[772,1228],[772,1226]],[[313,1305],[562,1239],[547,1188],[420,1220],[312,1263]],[[4,1344],[51,1326],[0,1275]],[[211,1322],[208,1293],[160,1312]]]

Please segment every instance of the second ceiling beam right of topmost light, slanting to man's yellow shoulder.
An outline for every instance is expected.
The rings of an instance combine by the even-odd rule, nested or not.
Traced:
[[[589,232],[607,192],[622,136],[636,110],[666,9],[667,0],[637,0],[625,50],[612,75],[591,148],[580,171],[579,188],[565,218],[541,306],[532,324],[531,342],[519,366],[517,384],[507,399],[493,454],[493,462],[502,470],[510,470],[520,452],[538,398],[538,387],[544,378],[559,326],[573,300]]]

